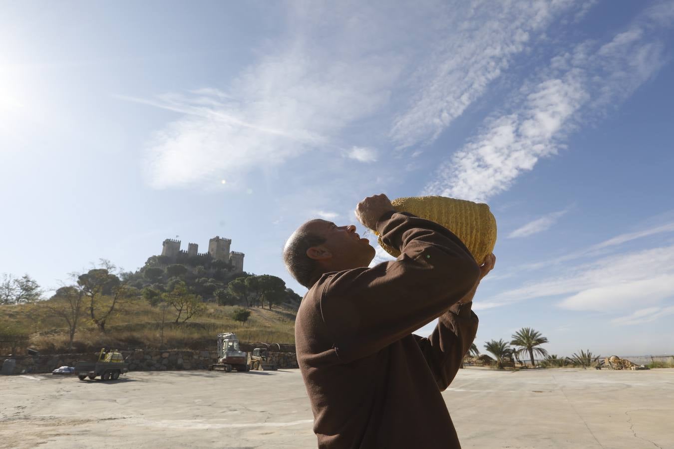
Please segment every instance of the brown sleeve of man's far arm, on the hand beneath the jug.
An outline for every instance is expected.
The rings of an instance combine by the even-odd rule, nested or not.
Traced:
[[[478,319],[470,304],[454,304],[437,320],[428,338],[414,335],[440,391],[454,380],[477,333]]]

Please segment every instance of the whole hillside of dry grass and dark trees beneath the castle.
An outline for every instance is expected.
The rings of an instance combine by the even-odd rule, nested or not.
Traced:
[[[247,343],[295,343],[301,296],[272,275],[234,273],[208,255],[148,258],[135,272],[109,261],[44,299],[28,275],[0,285],[0,353],[214,349],[216,335]]]

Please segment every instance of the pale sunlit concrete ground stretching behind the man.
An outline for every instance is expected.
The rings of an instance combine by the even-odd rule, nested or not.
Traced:
[[[464,448],[674,448],[674,370],[468,368],[443,396]],[[315,448],[311,425],[299,370],[0,377],[1,448]]]

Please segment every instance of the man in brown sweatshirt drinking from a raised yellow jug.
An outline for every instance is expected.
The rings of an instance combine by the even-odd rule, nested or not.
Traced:
[[[309,289],[295,321],[297,361],[320,448],[460,448],[440,394],[477,331],[478,267],[452,232],[396,212],[386,195],[361,201],[364,226],[400,249],[375,250],[356,227],[307,221],[288,239],[286,268]],[[429,338],[412,331],[439,317]]]

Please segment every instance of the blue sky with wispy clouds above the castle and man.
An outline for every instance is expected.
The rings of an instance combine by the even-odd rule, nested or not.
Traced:
[[[0,1],[0,273],[217,235],[303,295],[301,223],[443,195],[497,219],[479,349],[673,353],[673,42],[674,1]]]

